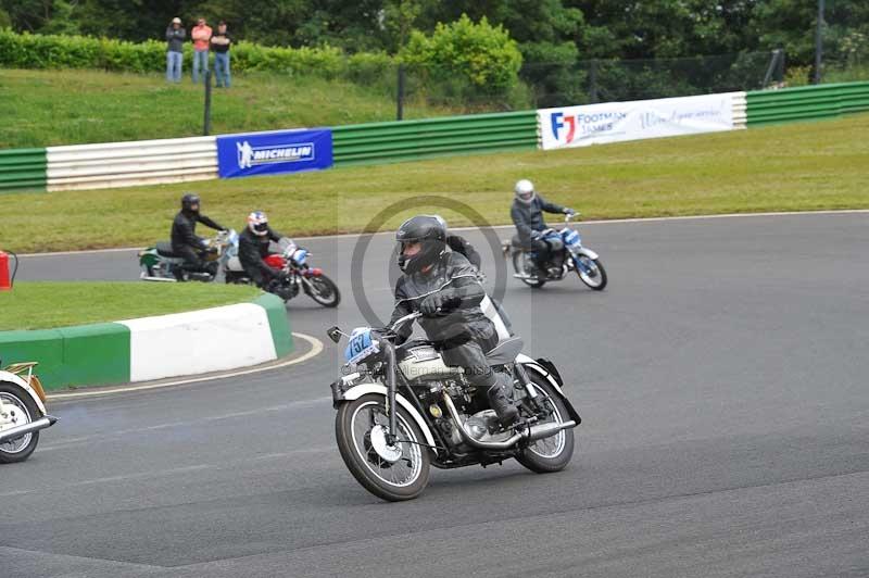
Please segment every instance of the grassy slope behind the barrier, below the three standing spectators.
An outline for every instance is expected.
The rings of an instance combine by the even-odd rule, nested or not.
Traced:
[[[0,70],[0,149],[199,136],[204,88],[189,72],[167,85],[159,74]],[[411,102],[406,116],[451,112]],[[342,80],[250,73],[212,97],[212,134],[394,118],[392,93]]]

